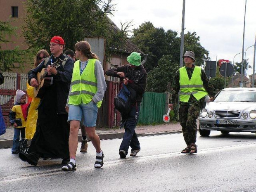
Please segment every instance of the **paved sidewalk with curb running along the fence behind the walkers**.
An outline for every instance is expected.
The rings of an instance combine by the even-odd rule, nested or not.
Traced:
[[[161,134],[170,134],[170,133],[180,133],[181,126],[180,123],[164,123],[160,125],[148,125],[148,126],[137,126],[135,128],[137,136],[146,136],[146,135],[161,135]],[[99,135],[101,140],[106,139],[118,139],[123,137],[124,128],[97,128],[96,133]],[[12,147],[12,140],[14,135],[14,128],[7,128],[6,133],[0,136],[0,148]],[[81,130],[78,133],[78,141],[81,141],[82,135]]]

